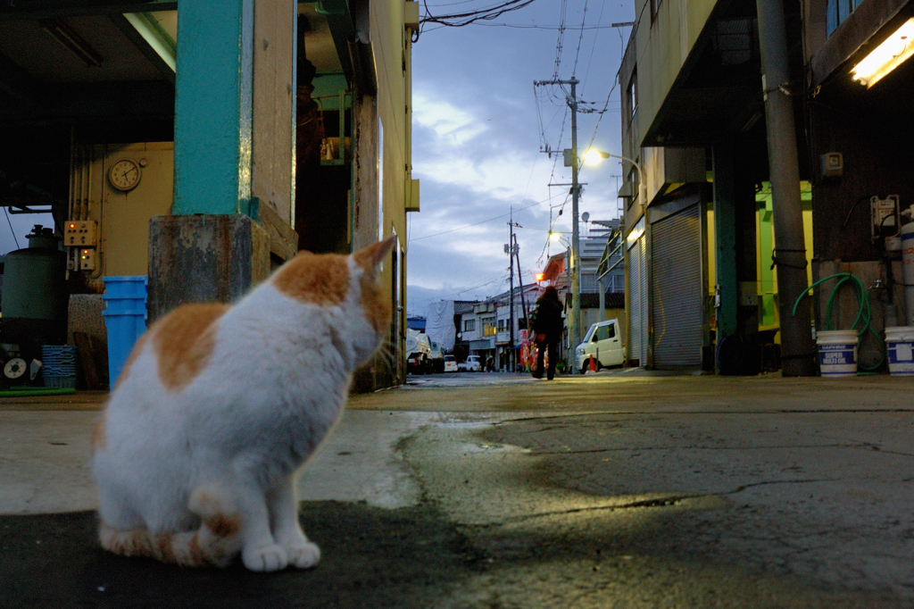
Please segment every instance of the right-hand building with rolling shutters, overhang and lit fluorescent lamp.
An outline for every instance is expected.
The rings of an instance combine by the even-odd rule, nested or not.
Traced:
[[[912,323],[897,236],[914,202],[905,145],[912,118],[902,102],[914,79],[904,35],[914,5],[784,3],[790,76],[768,84],[758,9],[753,0],[636,6],[619,73],[623,155],[644,172],[627,166],[620,192],[632,364],[754,374],[776,369],[779,354],[812,363],[814,352],[781,337],[784,312],[802,291],[781,294],[779,268],[805,269],[808,284],[854,272],[874,288],[874,333]],[[883,61],[884,43],[894,44],[888,63],[860,76],[867,57]],[[784,176],[770,168],[769,95],[788,97],[796,117],[796,192],[772,186]],[[779,251],[775,239],[775,220],[790,213],[778,203],[787,195],[799,202],[803,234],[789,236],[802,250]],[[826,318],[835,283],[811,299],[819,329],[853,324],[852,294],[840,294]],[[879,369],[878,341],[861,340],[861,366]]]

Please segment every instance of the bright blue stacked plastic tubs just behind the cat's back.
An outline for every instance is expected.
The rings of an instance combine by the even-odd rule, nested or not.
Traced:
[[[108,377],[112,388],[133,345],[146,331],[146,275],[102,277],[105,283],[105,327],[108,328]]]

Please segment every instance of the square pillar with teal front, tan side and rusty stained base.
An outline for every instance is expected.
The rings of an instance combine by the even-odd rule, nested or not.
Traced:
[[[293,215],[296,5],[186,0],[178,20],[174,215],[150,221],[151,320],[246,293]]]

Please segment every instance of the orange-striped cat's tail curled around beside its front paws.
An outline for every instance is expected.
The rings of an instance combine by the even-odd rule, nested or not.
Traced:
[[[241,519],[213,488],[198,488],[189,508],[200,517],[196,531],[150,535],[146,529],[120,530],[101,523],[101,547],[122,556],[145,556],[186,567],[225,567],[241,550]]]

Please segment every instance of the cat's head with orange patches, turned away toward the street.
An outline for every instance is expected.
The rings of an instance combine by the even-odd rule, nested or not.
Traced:
[[[295,300],[324,307],[341,320],[335,337],[353,348],[356,365],[367,361],[388,335],[391,299],[380,269],[397,237],[377,241],[349,256],[301,251],[277,271],[271,283]]]

